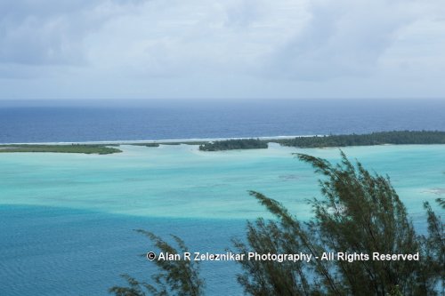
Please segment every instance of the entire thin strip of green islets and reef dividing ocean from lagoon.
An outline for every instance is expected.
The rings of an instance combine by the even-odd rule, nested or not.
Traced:
[[[333,148],[347,146],[373,145],[408,145],[408,144],[445,144],[445,132],[439,131],[394,131],[372,132],[366,134],[310,136],[277,139],[230,139],[230,140],[178,140],[178,141],[147,141],[123,142],[109,144],[8,144],[0,145],[2,152],[56,152],[111,154],[122,152],[115,148],[120,145],[134,145],[157,148],[159,145],[199,145],[201,151],[223,151],[234,149],[268,148],[274,142],[281,146],[295,148]]]

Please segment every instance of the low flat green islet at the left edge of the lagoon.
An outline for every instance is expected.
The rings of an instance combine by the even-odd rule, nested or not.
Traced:
[[[54,153],[83,153],[83,154],[112,154],[122,150],[97,144],[70,144],[70,145],[44,145],[44,144],[17,144],[0,145],[0,153],[7,152],[54,152]]]

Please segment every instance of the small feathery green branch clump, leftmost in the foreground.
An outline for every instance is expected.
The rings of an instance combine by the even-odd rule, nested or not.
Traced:
[[[151,242],[158,248],[159,252],[169,254],[182,254],[189,252],[187,246],[178,236],[172,236],[177,248],[168,244],[161,237],[155,236],[149,231],[137,230],[144,236],[150,238]],[[159,273],[151,276],[153,284],[139,282],[134,277],[122,275],[128,283],[127,287],[114,286],[109,292],[116,296],[200,296],[203,295],[204,281],[199,278],[198,262],[193,260],[158,260],[153,262],[157,265]]]

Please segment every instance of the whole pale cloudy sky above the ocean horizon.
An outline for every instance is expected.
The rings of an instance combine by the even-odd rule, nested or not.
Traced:
[[[445,98],[442,0],[3,0],[0,100]]]

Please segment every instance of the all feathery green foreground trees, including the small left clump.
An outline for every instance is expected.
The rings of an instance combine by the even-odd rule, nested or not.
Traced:
[[[239,260],[238,283],[253,296],[320,295],[443,295],[445,289],[445,239],[441,216],[425,202],[425,233],[419,234],[389,177],[352,164],[342,152],[339,164],[297,154],[322,176],[321,198],[308,201],[314,217],[298,220],[279,202],[251,191],[250,195],[275,219],[247,222],[245,239],[233,240],[236,253],[419,254],[419,260]],[[443,199],[439,208],[445,208]],[[178,236],[164,240],[148,231],[159,252],[190,252]],[[247,256],[246,256],[247,258]],[[116,296],[205,295],[199,262],[153,260],[158,274],[149,281],[124,275],[125,286],[114,286]]]

